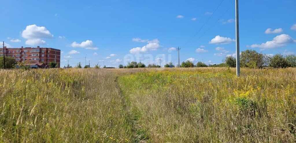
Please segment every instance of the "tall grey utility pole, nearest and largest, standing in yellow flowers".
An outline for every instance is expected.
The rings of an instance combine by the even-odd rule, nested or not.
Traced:
[[[239,0],[235,0],[235,23],[236,23],[236,42],[237,42],[237,76],[240,76],[240,65],[239,65]]]

